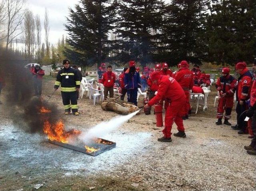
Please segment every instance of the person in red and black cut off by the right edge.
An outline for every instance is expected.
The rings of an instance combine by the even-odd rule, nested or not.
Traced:
[[[252,64],[252,69],[254,70],[254,76],[256,76],[256,58]],[[251,128],[252,128],[252,141],[249,146],[244,146],[247,153],[250,155],[256,155],[256,80],[253,80],[251,95],[250,95],[250,108],[246,111],[247,117],[252,117]]]

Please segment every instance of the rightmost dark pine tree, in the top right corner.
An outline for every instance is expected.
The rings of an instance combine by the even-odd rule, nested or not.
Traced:
[[[209,61],[235,64],[256,56],[255,0],[217,1],[207,21]]]

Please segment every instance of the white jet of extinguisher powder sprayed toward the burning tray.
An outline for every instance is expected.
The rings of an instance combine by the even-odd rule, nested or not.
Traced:
[[[92,127],[92,129],[90,129],[89,131],[80,134],[78,139],[80,139],[83,142],[86,142],[90,139],[93,139],[94,137],[102,137],[103,135],[106,135],[107,133],[120,127],[124,122],[128,121],[130,118],[132,118],[138,112],[139,111],[135,111],[128,115],[113,117],[109,121],[104,121],[104,122]]]

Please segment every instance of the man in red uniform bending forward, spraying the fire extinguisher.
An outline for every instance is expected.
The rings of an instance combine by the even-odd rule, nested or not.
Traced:
[[[158,103],[163,97],[170,102],[164,119],[164,136],[158,138],[158,141],[171,142],[171,130],[172,124],[175,122],[178,128],[178,133],[174,133],[177,137],[186,137],[185,128],[182,120],[182,113],[185,103],[186,95],[180,86],[180,84],[170,76],[163,76],[160,72],[153,72],[150,75],[152,82],[158,83],[158,91],[154,98],[152,98],[148,104],[144,107],[148,108],[156,103]]]

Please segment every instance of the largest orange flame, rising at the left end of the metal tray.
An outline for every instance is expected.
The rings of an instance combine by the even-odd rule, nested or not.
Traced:
[[[68,143],[68,137],[70,137],[71,135],[80,134],[81,131],[74,129],[66,131],[64,129],[64,124],[62,123],[62,121],[59,121],[56,124],[51,124],[49,121],[46,120],[44,122],[44,133],[48,135],[48,139],[50,139],[51,141]]]

